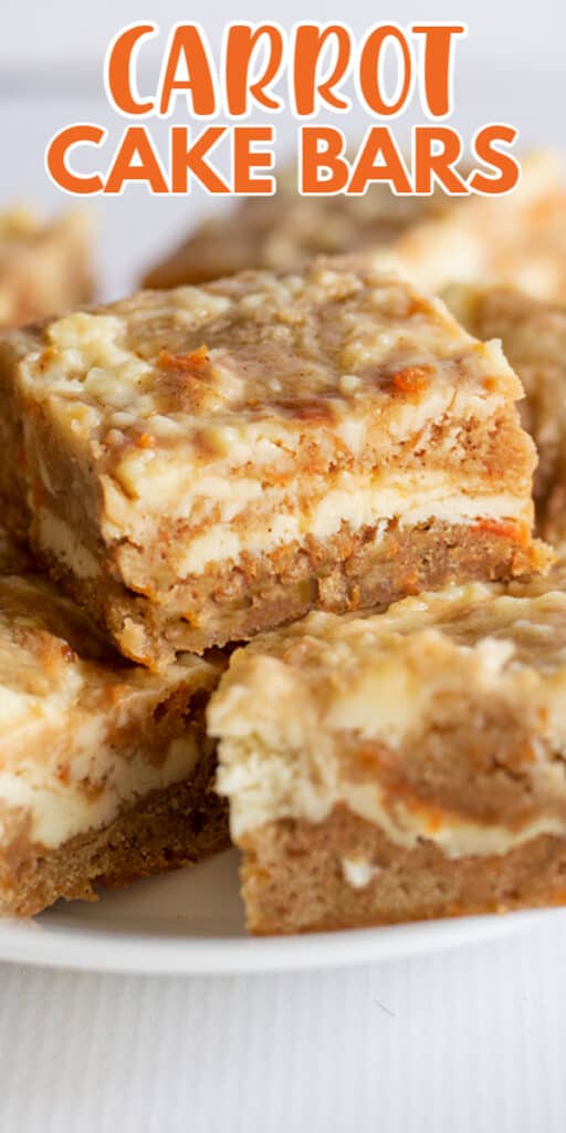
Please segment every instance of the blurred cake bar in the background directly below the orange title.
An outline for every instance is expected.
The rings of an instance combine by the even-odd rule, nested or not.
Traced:
[[[206,221],[144,278],[145,287],[200,283],[242,269],[295,271],[316,255],[378,253],[426,290],[453,279],[521,281],[566,300],[566,194],[558,155],[523,161],[506,196],[395,196],[376,184],[363,196],[301,197],[295,171],[272,197],[241,201]]]

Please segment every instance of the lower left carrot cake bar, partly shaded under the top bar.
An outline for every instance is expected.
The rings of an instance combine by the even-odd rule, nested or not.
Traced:
[[[5,540],[2,571],[17,555]],[[222,664],[149,673],[50,582],[0,574],[0,914],[225,849],[204,722]]]

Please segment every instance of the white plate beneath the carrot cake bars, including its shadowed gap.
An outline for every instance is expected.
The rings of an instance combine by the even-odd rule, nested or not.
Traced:
[[[61,902],[33,921],[0,921],[0,960],[146,974],[333,968],[499,937],[540,915],[465,917],[254,939],[246,935],[238,855],[231,851],[194,869],[105,893],[93,904]]]

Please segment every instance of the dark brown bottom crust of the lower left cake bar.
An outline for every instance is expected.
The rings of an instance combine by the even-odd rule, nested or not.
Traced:
[[[25,837],[0,872],[0,912],[33,917],[59,897],[96,900],[95,886],[118,887],[194,864],[230,845],[225,803],[214,793],[214,760],[190,782],[154,791],[110,826],[42,852]]]

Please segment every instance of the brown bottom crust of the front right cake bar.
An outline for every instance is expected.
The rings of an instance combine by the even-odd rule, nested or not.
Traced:
[[[248,928],[257,935],[566,904],[566,838],[556,835],[498,857],[448,858],[431,842],[396,846],[341,804],[317,825],[268,823],[240,845]]]

